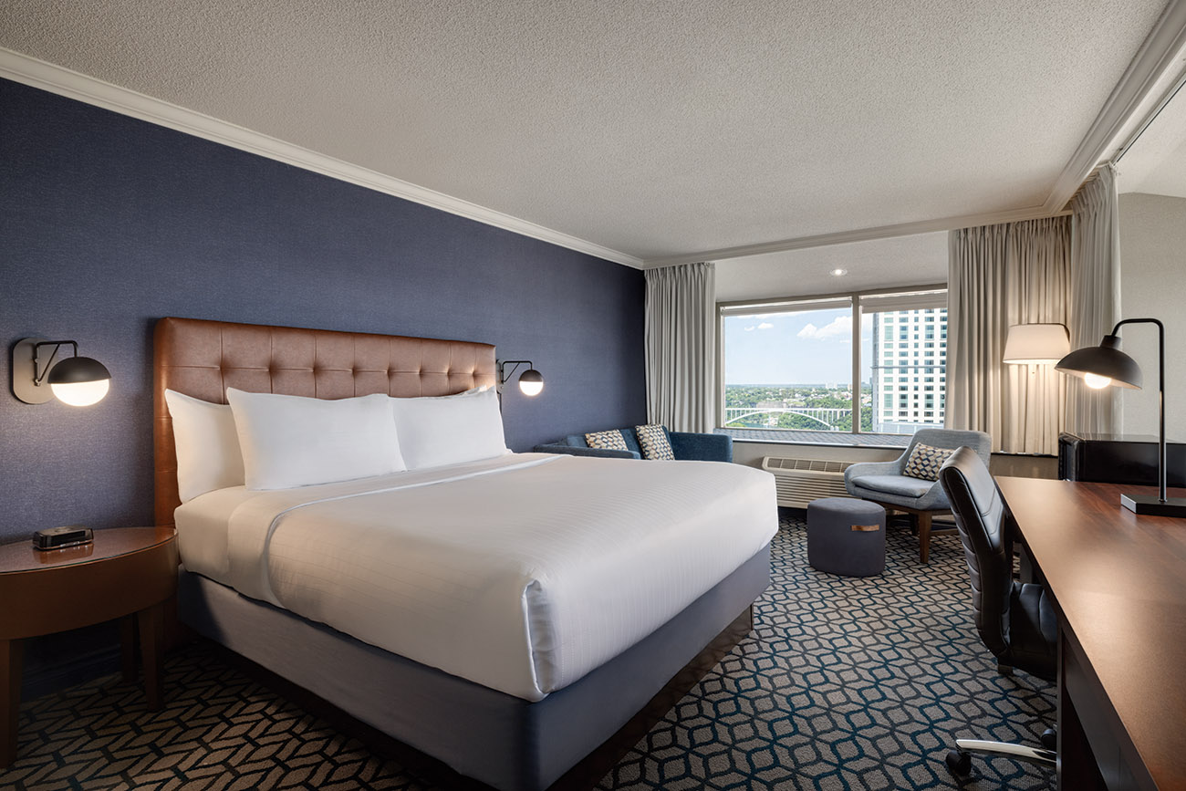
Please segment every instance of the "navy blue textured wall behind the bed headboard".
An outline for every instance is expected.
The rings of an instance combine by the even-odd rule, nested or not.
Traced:
[[[88,408],[6,382],[0,541],[151,524],[162,315],[493,343],[547,379],[506,390],[516,451],[646,416],[640,272],[8,81],[0,272],[5,369],[37,334],[113,376]]]

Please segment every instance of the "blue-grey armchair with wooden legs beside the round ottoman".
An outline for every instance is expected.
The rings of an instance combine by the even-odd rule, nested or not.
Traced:
[[[924,480],[903,474],[914,446],[922,442],[938,448],[971,448],[988,466],[993,440],[984,432],[961,432],[950,428],[923,428],[914,433],[906,452],[893,461],[866,461],[844,471],[844,489],[853,497],[872,500],[891,511],[904,511],[918,522],[918,557],[924,563],[931,555],[931,517],[950,513],[951,504],[938,480]]]

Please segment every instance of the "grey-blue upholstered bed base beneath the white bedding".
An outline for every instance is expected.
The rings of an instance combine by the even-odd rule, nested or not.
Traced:
[[[569,791],[593,787],[750,632],[769,581],[767,546],[652,634],[534,703],[184,569],[178,605],[185,624],[280,694],[448,787]]]

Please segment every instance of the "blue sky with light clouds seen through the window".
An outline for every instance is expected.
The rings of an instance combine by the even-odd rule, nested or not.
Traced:
[[[862,318],[861,379],[869,381],[872,317]],[[725,317],[726,384],[848,384],[850,308]]]

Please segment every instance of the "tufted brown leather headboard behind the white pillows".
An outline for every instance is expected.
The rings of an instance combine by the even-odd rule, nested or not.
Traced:
[[[157,524],[173,524],[177,449],[165,390],[227,403],[227,388],[314,398],[439,396],[495,384],[495,347],[364,332],[165,318],[153,340]]]

